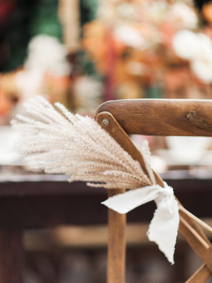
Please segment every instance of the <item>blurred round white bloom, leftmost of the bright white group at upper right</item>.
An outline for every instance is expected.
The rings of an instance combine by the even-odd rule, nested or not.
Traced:
[[[183,29],[177,32],[172,41],[174,52],[183,59],[191,59],[197,56],[200,49],[198,35]]]

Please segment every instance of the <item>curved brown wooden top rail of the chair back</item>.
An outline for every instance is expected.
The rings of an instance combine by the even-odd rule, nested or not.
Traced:
[[[128,134],[212,136],[212,100],[124,99],[102,103]]]

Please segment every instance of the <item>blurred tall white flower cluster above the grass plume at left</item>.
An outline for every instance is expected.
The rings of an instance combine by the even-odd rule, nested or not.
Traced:
[[[28,45],[28,57],[24,69],[14,75],[14,81],[22,100],[35,95],[48,95],[44,87],[44,76],[65,76],[70,73],[66,60],[67,50],[57,38],[49,35],[37,35]]]

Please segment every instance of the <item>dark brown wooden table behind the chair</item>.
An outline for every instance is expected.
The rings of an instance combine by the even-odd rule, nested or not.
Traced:
[[[204,170],[167,171],[161,177],[184,207],[197,217],[212,216],[212,174]],[[0,283],[22,283],[24,229],[60,224],[103,224],[104,188],[68,183],[65,175],[0,176]],[[137,207],[128,222],[150,221],[154,202]]]

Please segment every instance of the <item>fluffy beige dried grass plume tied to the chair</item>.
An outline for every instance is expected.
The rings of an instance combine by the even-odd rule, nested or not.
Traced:
[[[142,153],[149,176],[94,119],[74,115],[60,103],[54,107],[41,96],[25,106],[30,117],[17,115],[11,123],[23,133],[17,149],[32,169],[108,189],[155,184],[147,142]]]

